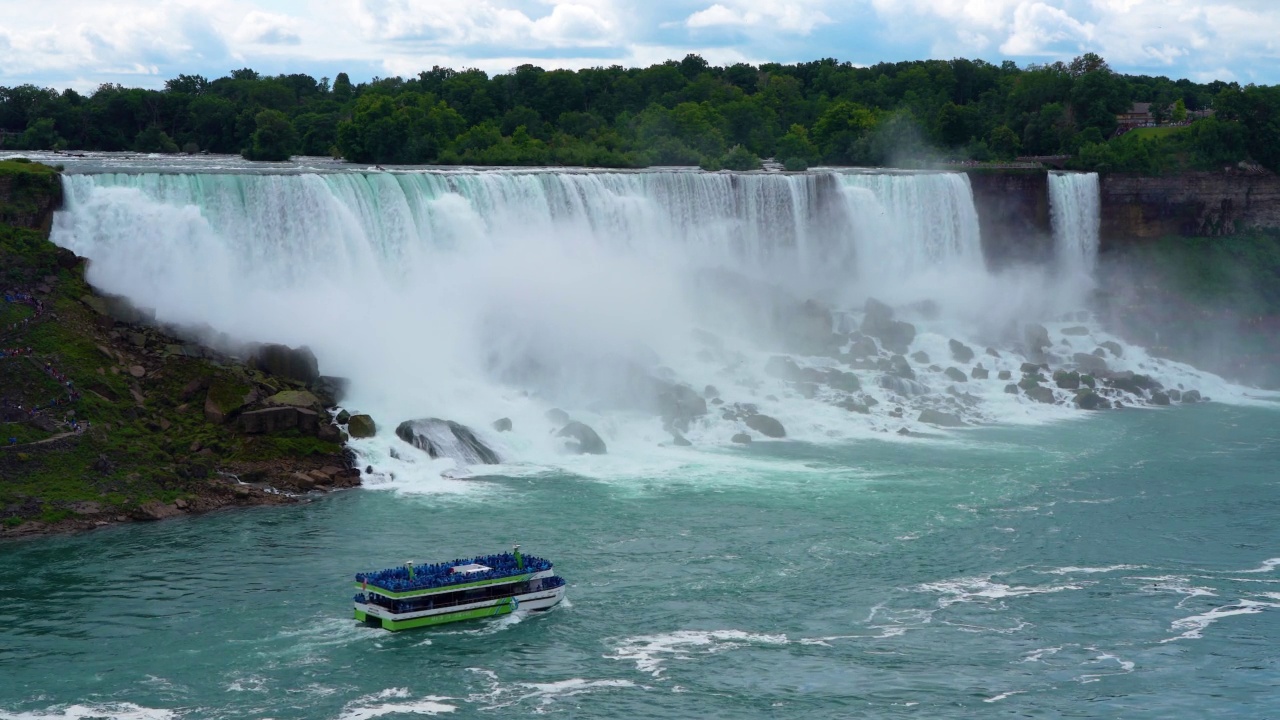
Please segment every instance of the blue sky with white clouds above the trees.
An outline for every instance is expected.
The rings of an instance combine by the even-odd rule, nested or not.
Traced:
[[[1280,83],[1280,0],[0,0],[0,86],[92,91],[433,65],[494,73],[836,58],[1020,65],[1093,51],[1125,73]]]

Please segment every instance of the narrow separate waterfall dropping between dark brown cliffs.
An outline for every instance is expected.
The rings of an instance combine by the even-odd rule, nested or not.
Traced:
[[[1050,213],[1059,268],[1092,277],[1098,258],[1101,201],[1097,173],[1050,173]]]

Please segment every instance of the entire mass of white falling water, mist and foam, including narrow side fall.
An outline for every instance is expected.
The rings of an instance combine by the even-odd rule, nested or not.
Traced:
[[[353,443],[378,470],[366,484],[445,489],[442,474],[476,470],[396,437],[421,418],[470,427],[506,473],[603,475],[769,439],[758,414],[812,442],[1084,416],[1052,380],[1053,402],[1009,387],[1028,359],[1240,397],[1083,310],[1096,178],[1055,176],[1057,264],[993,273],[960,173],[110,170],[65,176],[55,242],[161,322],[311,347],[378,421]],[[868,299],[893,318],[868,319]],[[567,452],[550,409],[608,455]]]

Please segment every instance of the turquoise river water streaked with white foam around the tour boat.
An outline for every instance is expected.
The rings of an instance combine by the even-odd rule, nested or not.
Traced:
[[[0,719],[1276,716],[1271,409],[722,455],[0,544]],[[567,602],[351,619],[357,570],[512,542]]]

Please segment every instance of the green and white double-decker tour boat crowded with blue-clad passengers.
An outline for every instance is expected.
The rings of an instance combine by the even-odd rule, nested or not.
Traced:
[[[356,620],[387,630],[547,610],[564,598],[564,578],[552,562],[522,555],[518,544],[470,560],[356,573]]]

